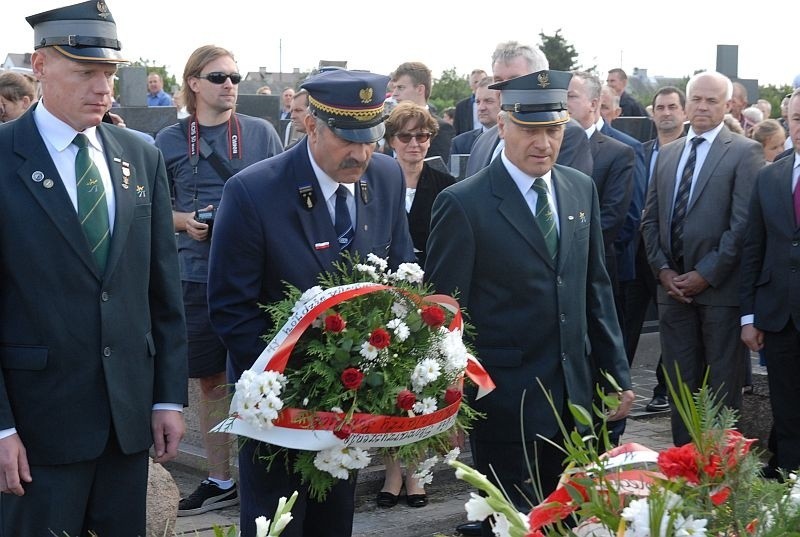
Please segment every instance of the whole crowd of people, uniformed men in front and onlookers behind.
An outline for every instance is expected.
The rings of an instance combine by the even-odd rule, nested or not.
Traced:
[[[208,475],[179,515],[240,503],[252,537],[297,490],[284,535],[350,535],[352,480],[316,501],[264,463],[276,446],[248,441],[236,483],[232,439],[207,432],[266,345],[260,305],[287,282],[315,285],[345,252],[417,262],[458,297],[497,385],[479,400],[466,388],[484,415],[473,459],[520,510],[556,487],[559,421],[588,432],[568,401],[590,408],[598,384],[616,394],[609,431],[624,435],[653,302],[648,410],[671,410],[673,442],[690,438],[667,380],[707,381],[739,409],[759,352],[774,417],[765,472],[800,467],[800,89],[770,119],[769,103],[703,71],[644,107],[622,69],[605,81],[551,70],[509,41],[449,119],[428,105],[421,62],[391,77],[328,68],[284,89],[280,135],[236,112],[234,55],[205,45],[174,101],[149,74],[148,104],[186,117],[148,140],[108,115],[127,60],[104,2],[27,21],[32,77],[0,74],[0,535],[143,535],[148,454],[176,455],[189,378]],[[652,122],[653,139],[615,128],[620,116]],[[465,179],[448,173],[451,154],[468,155]],[[378,505],[405,489],[424,507],[414,468],[385,463]],[[458,529],[492,534],[489,521]]]

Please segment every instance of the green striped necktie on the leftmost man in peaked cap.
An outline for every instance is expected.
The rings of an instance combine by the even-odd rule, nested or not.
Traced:
[[[75,157],[75,181],[78,188],[78,218],[89,241],[100,272],[106,268],[108,247],[111,242],[108,226],[106,191],[100,171],[89,154],[89,139],[79,133],[72,143],[78,146]]]

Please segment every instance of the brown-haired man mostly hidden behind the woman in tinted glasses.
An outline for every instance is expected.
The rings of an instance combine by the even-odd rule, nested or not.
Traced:
[[[428,107],[428,99],[431,96],[433,78],[431,70],[424,63],[406,62],[400,64],[392,73],[394,82],[394,93],[392,97],[399,103],[411,101],[422,107]],[[433,112],[431,112],[433,115]],[[428,157],[442,157],[445,166],[450,165],[450,143],[455,136],[455,129],[440,117],[433,116],[439,124],[439,132],[431,138],[431,147],[428,149]]]

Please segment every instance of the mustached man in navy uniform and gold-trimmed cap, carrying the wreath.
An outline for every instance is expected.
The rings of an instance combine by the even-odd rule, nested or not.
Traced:
[[[343,69],[312,76],[302,85],[310,111],[304,119],[307,136],[225,184],[211,243],[208,295],[211,323],[228,349],[230,382],[266,346],[261,336],[272,326],[258,305],[282,300],[284,282],[299,289],[317,285],[319,274],[331,270],[343,251],[362,258],[374,253],[391,267],[414,260],[400,167],[373,154],[385,130],[387,81]],[[274,453],[279,459],[267,469],[259,457]],[[241,445],[242,536],[253,537],[256,517],[270,518],[278,499],[295,490],[300,499],[285,537],[350,535],[353,480],[339,481],[324,502],[316,502],[299,476],[287,473],[284,455],[291,467],[291,450],[255,440]]]

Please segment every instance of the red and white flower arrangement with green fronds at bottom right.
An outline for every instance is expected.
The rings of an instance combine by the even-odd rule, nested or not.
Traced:
[[[607,452],[602,433],[564,431],[568,461],[559,487],[519,513],[486,476],[457,461],[456,476],[481,490],[467,502],[470,520],[492,517],[501,537],[798,537],[800,483],[759,476],[753,440],[733,428],[735,412],[707,388],[670,386],[693,441],[660,453],[638,444]],[[572,408],[576,420],[589,414]],[[602,412],[596,412],[602,416]],[[601,430],[605,429],[605,425]]]

